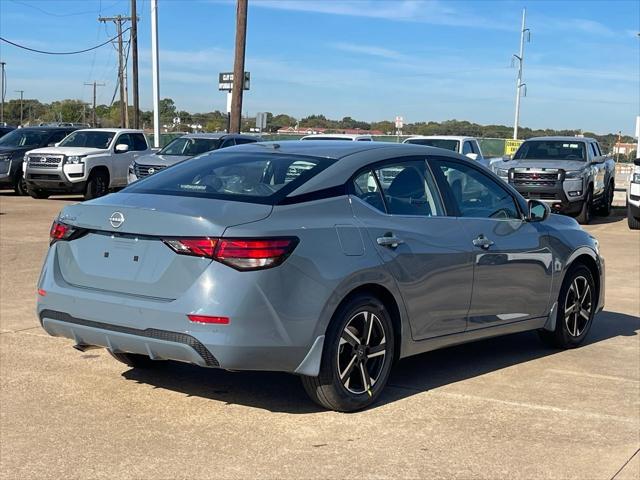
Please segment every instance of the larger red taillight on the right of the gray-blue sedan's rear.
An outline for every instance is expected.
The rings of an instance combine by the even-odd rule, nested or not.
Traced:
[[[181,255],[211,258],[236,270],[260,270],[284,262],[298,239],[172,238],[164,243]]]

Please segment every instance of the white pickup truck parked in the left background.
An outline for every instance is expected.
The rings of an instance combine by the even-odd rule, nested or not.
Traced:
[[[142,130],[76,130],[55,147],[27,152],[27,189],[33,198],[53,193],[82,193],[87,200],[100,197],[127,185],[129,165],[149,152]]]

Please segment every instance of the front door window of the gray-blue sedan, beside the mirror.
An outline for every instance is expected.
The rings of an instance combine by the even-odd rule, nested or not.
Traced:
[[[491,177],[470,166],[433,161],[438,182],[461,217],[520,218],[511,194]]]

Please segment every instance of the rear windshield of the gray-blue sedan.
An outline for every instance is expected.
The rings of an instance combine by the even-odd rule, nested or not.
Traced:
[[[132,183],[125,191],[273,205],[333,162],[327,158],[223,149],[181,162]]]

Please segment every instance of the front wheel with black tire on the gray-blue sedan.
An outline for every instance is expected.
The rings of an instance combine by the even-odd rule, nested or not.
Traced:
[[[585,292],[585,285],[588,290]],[[578,292],[576,296],[575,292]],[[575,348],[586,338],[598,305],[595,282],[591,271],[584,265],[576,265],[567,273],[556,312],[556,326],[553,331],[538,330],[540,338],[555,348]],[[579,297],[583,297],[581,300]],[[572,310],[569,311],[568,309]],[[579,309],[579,310],[578,310]]]

